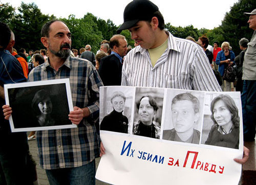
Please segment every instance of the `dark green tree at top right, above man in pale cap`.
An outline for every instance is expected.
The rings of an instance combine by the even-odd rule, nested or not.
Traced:
[[[255,0],[239,0],[226,13],[221,29],[225,41],[228,41],[236,55],[240,53],[239,40],[243,37],[250,40],[253,30],[247,24],[249,16],[244,12],[251,12],[256,7]]]

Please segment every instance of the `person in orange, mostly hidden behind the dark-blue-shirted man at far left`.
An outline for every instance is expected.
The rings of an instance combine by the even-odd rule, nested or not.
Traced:
[[[15,37],[14,37],[14,33],[11,31],[10,42],[6,47],[6,50],[8,50],[14,57],[17,58],[20,65],[22,65],[24,76],[26,78],[28,78],[28,73],[29,73],[28,63],[23,57],[19,56],[16,52],[13,51],[12,48],[13,48],[14,44],[15,44]]]

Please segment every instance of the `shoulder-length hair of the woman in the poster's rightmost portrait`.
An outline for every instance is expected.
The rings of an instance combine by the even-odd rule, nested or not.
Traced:
[[[214,100],[211,101],[211,104],[210,104],[211,120],[214,121],[214,124],[218,125],[218,123],[214,119],[214,106],[215,106],[215,103],[220,100],[224,102],[227,109],[231,113],[232,115],[231,121],[233,126],[236,128],[239,128],[240,118],[238,114],[238,107],[236,106],[236,103],[234,103],[234,100],[229,95],[219,95],[218,97],[215,97]]]

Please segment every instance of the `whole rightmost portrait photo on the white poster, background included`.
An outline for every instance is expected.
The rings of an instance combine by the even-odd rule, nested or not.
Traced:
[[[201,144],[239,149],[240,97],[231,94],[208,94]]]

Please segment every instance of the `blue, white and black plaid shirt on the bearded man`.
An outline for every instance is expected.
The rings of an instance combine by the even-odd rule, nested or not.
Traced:
[[[102,81],[95,67],[84,59],[68,57],[56,72],[47,59],[29,74],[29,81],[61,78],[70,79],[73,105],[88,107],[91,115],[83,118],[77,128],[37,131],[40,166],[44,169],[79,167],[90,163],[100,152],[94,122],[99,117]]]

